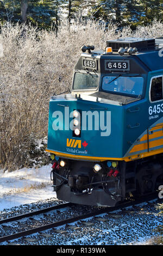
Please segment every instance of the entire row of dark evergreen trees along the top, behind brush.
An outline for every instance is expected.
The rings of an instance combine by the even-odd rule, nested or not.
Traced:
[[[90,17],[116,22],[120,27],[163,21],[163,0],[0,0],[0,22],[31,22],[40,28],[58,28],[64,14],[68,21]]]

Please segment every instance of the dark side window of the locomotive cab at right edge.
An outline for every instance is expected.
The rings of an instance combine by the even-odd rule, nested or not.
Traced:
[[[159,101],[162,99],[162,76],[154,77],[151,83],[151,101]]]

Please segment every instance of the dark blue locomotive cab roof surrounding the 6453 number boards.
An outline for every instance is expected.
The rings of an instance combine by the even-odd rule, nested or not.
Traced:
[[[101,66],[97,72],[106,72],[104,70],[103,62],[106,60],[129,60],[131,62],[130,73],[136,74],[140,72],[145,74],[149,71],[163,70],[163,38],[158,39],[140,39],[140,38],[126,38],[110,40],[106,42],[107,47],[112,46],[112,53],[106,54],[104,50],[93,50],[83,52],[75,66],[75,69],[83,69],[82,58],[96,58],[100,59]],[[124,52],[123,55],[118,53],[120,47],[137,47],[137,52],[129,54]],[[94,46],[93,46],[94,47]]]

